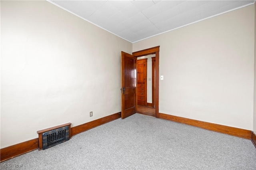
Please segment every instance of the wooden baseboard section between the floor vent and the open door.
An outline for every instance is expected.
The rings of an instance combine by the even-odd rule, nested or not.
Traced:
[[[109,116],[106,116],[106,117],[102,117],[100,119],[97,119],[97,120],[94,120],[94,121],[91,121],[91,122],[88,122],[88,123],[84,123],[82,125],[72,127],[71,128],[71,136],[74,136],[78,133],[89,130],[91,128],[98,127],[98,126],[103,125],[105,123],[108,123],[110,121],[114,121],[116,119],[119,119],[121,117],[120,113],[121,112],[115,113],[113,115],[109,115]]]

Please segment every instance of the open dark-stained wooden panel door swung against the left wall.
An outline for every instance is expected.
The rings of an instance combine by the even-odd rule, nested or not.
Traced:
[[[137,111],[136,61],[136,57],[121,51],[122,119]]]

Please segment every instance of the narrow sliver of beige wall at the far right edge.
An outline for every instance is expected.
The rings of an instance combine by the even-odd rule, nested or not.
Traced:
[[[254,122],[253,130],[256,132],[256,3],[254,4]]]

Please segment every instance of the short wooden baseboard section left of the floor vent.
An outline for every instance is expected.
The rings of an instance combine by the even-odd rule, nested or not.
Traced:
[[[0,162],[38,149],[38,138],[0,149]]]

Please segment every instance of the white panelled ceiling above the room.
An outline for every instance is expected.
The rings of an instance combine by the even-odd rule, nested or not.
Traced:
[[[255,0],[48,1],[132,43],[255,3]]]

